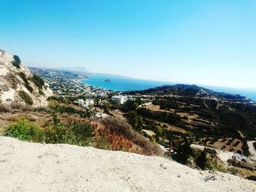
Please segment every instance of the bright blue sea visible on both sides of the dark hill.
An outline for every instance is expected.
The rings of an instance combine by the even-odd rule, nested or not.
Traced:
[[[135,78],[108,75],[108,74],[90,74],[89,78],[81,80],[86,85],[92,85],[98,88],[104,88],[111,91],[138,91],[148,88],[154,88],[162,85],[176,85],[178,82],[164,82],[154,80],[140,80]],[[253,88],[228,88],[211,85],[198,85],[217,92],[240,94],[256,101],[256,89]]]

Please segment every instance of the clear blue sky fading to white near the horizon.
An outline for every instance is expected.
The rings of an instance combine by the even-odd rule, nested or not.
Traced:
[[[0,0],[0,48],[29,66],[256,88],[256,1]]]

